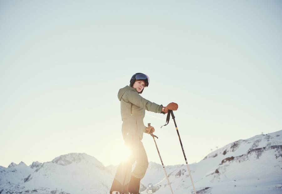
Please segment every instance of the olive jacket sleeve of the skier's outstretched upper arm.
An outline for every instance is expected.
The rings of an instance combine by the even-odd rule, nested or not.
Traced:
[[[158,105],[154,102],[150,102],[149,100],[144,99],[138,92],[129,90],[125,93],[125,100],[128,100],[128,102],[131,102],[132,104],[142,107],[145,110],[155,112],[155,113],[161,113],[161,109],[163,105]]]

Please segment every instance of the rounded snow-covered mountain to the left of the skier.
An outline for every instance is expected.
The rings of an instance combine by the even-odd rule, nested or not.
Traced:
[[[36,169],[26,166],[25,173],[12,174],[16,167],[2,167],[4,173],[1,172],[0,191],[56,193],[58,190],[99,194],[107,193],[112,181],[112,173],[96,158],[85,153],[62,155]],[[10,185],[7,180],[16,180],[17,185]]]

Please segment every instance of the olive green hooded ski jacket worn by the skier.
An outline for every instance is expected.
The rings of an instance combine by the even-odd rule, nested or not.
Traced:
[[[132,139],[132,135],[138,135],[142,140],[143,133],[146,131],[143,122],[145,110],[161,113],[163,105],[144,99],[135,88],[128,85],[119,89],[118,100],[120,101],[120,113],[123,121],[123,139],[127,141]]]

